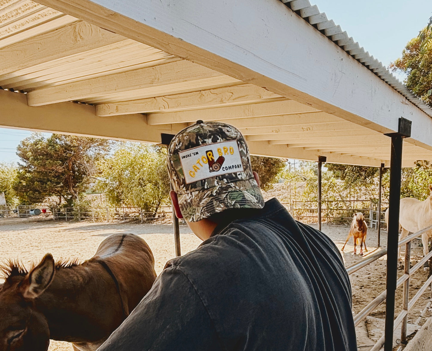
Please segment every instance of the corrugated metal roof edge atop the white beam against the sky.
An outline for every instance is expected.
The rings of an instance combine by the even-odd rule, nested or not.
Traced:
[[[324,12],[321,13],[316,5],[311,6],[309,0],[281,1],[292,11],[301,16],[306,22],[314,26],[314,28],[346,51],[351,57],[354,57],[398,93],[405,96],[410,102],[432,117],[431,106],[427,105],[403,83],[397,80],[381,62],[365,51],[364,48],[360,47],[359,43],[354,41],[352,37],[349,37],[346,32],[343,32],[340,26],[337,26],[332,20],[327,19],[326,14]]]

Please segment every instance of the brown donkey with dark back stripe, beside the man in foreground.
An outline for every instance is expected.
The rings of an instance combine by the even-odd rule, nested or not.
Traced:
[[[0,351],[46,351],[50,338],[96,350],[156,279],[149,246],[133,234],[109,236],[82,264],[47,254],[30,271],[13,262],[2,271]]]

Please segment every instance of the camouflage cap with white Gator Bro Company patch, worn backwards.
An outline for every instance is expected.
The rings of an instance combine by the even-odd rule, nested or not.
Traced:
[[[228,208],[263,208],[245,138],[229,124],[197,121],[168,146],[168,175],[184,219]]]

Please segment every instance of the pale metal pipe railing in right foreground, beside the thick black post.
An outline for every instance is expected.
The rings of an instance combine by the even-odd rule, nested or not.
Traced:
[[[432,226],[429,226],[425,229],[422,229],[418,231],[417,233],[413,233],[405,237],[404,239],[400,240],[398,243],[398,246],[405,245],[405,262],[404,262],[404,272],[403,275],[397,279],[396,282],[396,288],[401,287],[403,285],[403,297],[402,297],[402,311],[398,314],[396,319],[394,319],[394,330],[397,329],[397,327],[402,323],[401,328],[401,335],[400,340],[402,343],[407,342],[407,323],[408,323],[408,313],[413,308],[414,304],[419,300],[420,296],[425,292],[427,287],[432,284],[432,275],[425,281],[425,283],[422,285],[422,287],[417,291],[417,293],[414,295],[414,297],[409,300],[409,293],[410,293],[410,277],[413,276],[413,274],[423,266],[424,263],[426,263],[431,257],[432,252],[429,252],[428,255],[423,257],[419,262],[416,263],[413,267],[410,267],[410,258],[411,258],[411,241],[413,239],[418,238],[423,233],[429,231],[432,229]],[[372,255],[367,256],[366,258],[362,259],[360,262],[356,262],[353,265],[350,265],[346,268],[346,271],[348,274],[353,274],[354,272],[358,271],[359,269],[371,264],[372,262],[375,262],[378,258],[383,257],[384,255],[387,255],[387,249],[382,249],[379,252],[375,252]],[[432,288],[432,286],[431,286]],[[377,306],[379,306],[382,302],[385,301],[387,297],[387,290],[384,290],[379,294],[377,297],[375,297],[374,300],[372,300],[370,303],[368,303],[367,306],[365,306],[359,313],[357,313],[354,316],[354,325],[359,325],[360,322],[362,322],[363,319],[365,319]],[[432,300],[431,300],[432,301]],[[430,305],[430,304],[429,304]],[[375,343],[371,351],[378,351],[384,346],[384,335],[381,336],[381,338]]]

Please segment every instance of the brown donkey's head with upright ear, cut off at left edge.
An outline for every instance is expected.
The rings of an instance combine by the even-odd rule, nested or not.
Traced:
[[[54,278],[53,257],[45,255],[29,273],[13,264],[6,270],[8,277],[0,286],[0,351],[48,350],[48,322],[35,309],[35,299]]]

